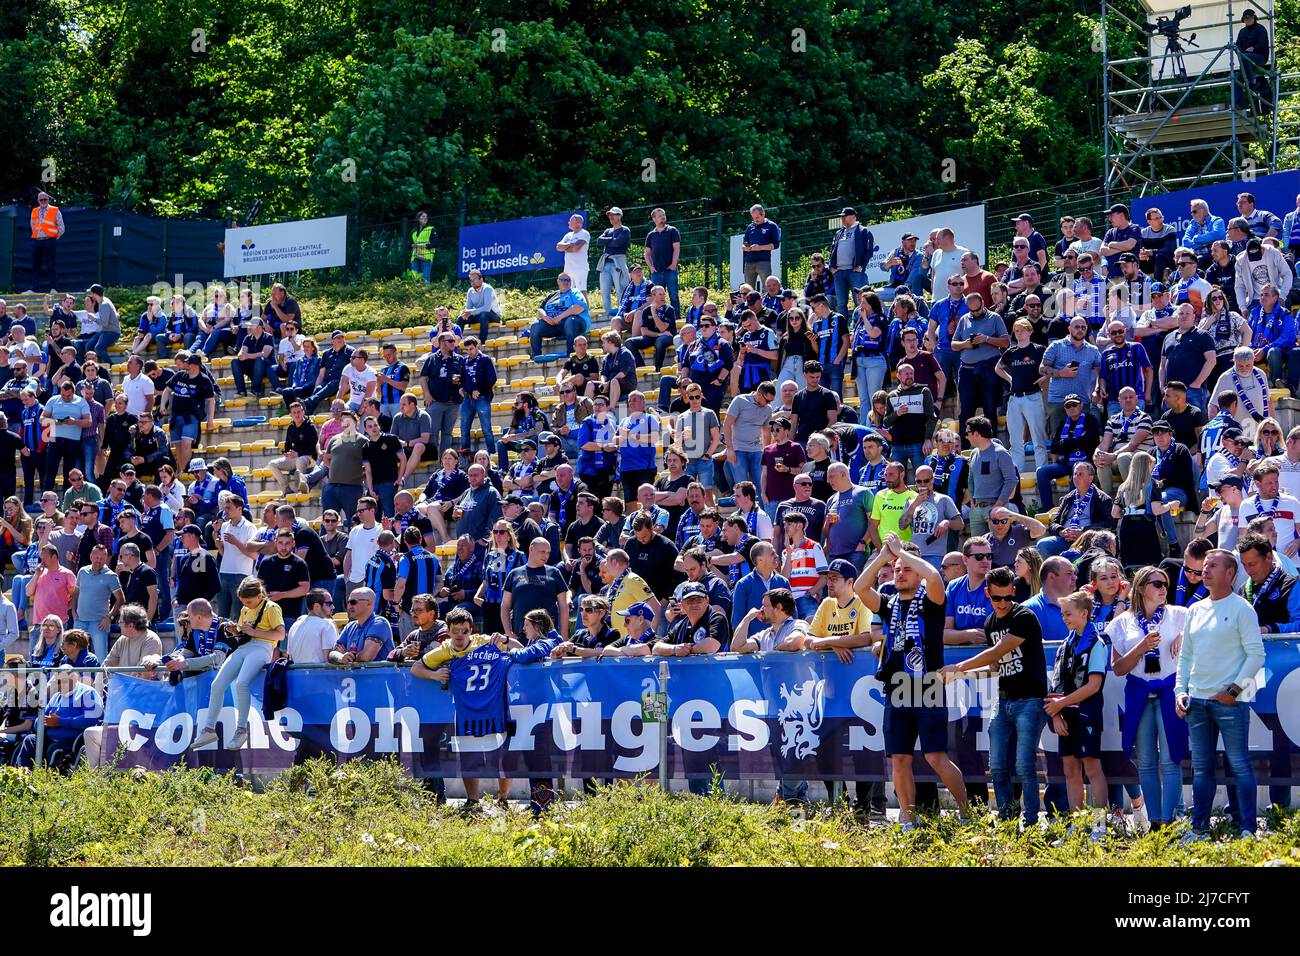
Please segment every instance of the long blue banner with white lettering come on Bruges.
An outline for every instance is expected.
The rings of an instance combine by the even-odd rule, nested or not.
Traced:
[[[1251,749],[1260,784],[1300,782],[1300,654],[1291,640],[1269,641],[1261,689],[1248,706]],[[971,652],[952,648],[949,662]],[[1049,646],[1049,666],[1052,648]],[[204,674],[166,682],[114,675],[104,728],[105,756],[120,747],[127,766],[191,766],[274,771],[306,757],[395,757],[419,777],[636,777],[659,766],[662,724],[642,722],[642,695],[659,689],[666,658],[550,661],[510,674],[512,732],[494,737],[454,734],[452,696],[411,670],[291,670],[289,706],[261,718],[255,687],[250,745],[240,752],[188,750],[199,717],[205,721]],[[857,654],[722,654],[670,661],[668,743],[673,777],[707,777],[718,766],[736,779],[774,777],[815,780],[885,778],[884,689],[875,658]],[[257,682],[260,683],[260,682]],[[1136,780],[1121,752],[1124,679],[1108,675],[1105,732],[1108,775]],[[987,779],[987,726],[996,682],[963,680],[945,691],[949,750],[970,780]],[[230,700],[220,717],[221,743],[234,728]],[[1041,737],[1044,770],[1060,775],[1057,737]],[[918,775],[928,767],[916,762]]]

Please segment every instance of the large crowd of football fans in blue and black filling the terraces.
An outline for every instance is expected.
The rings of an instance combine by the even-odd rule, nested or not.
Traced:
[[[216,667],[213,705],[235,696],[234,748],[250,687],[277,656],[420,659],[430,675],[482,645],[465,644],[472,631],[515,650],[546,639],[550,657],[850,659],[874,646],[905,826],[937,805],[913,780],[918,741],[961,813],[987,799],[963,784],[927,692],[992,672],[1004,816],[1019,801],[1035,822],[1050,727],[1067,784],[1048,787],[1049,809],[1082,808],[1087,779],[1098,808],[1127,801],[1135,821],[1170,823],[1190,753],[1202,835],[1222,734],[1230,813],[1251,831],[1238,701],[1261,633],[1300,628],[1300,427],[1283,433],[1274,408],[1274,389],[1300,382],[1300,198],[1284,219],[1249,194],[1236,212],[1225,225],[1193,202],[1179,235],[1158,209],[1143,228],[1115,204],[1100,237],[1065,217],[1052,239],[1022,215],[993,271],[950,229],[905,235],[889,282],[871,287],[875,243],[846,208],[796,290],[770,274],[780,229],[755,206],[746,284],[722,304],[692,289],[681,308],[680,235],[656,209],[646,263],[629,269],[614,208],[595,239],[610,329],[588,337],[578,219],[526,330],[533,355],[554,359],[547,384],[514,397],[503,429],[484,347],[500,308],[478,273],[464,310],[437,310],[417,365],[342,332],[317,349],[277,286],[264,304],[222,294],[202,312],[151,299],[113,382],[99,362],[121,323],[103,289],[83,310],[49,306],[43,346],[31,317],[0,303],[0,441],[25,477],[18,499],[14,472],[0,472],[0,557],[18,571],[13,601],[0,597],[0,645],[26,627],[16,661],[34,667],[143,665],[177,679]],[[559,338],[566,351],[543,355]],[[207,359],[222,350],[240,394],[283,398],[291,424],[269,467],[283,492],[321,486],[318,527],[289,503],[255,520],[231,463],[194,457],[221,401]],[[1180,537],[1174,518],[1197,502]],[[173,627],[164,654],[159,632]],[[1060,643],[1052,672],[1044,641]],[[979,650],[945,666],[944,645]],[[1108,787],[1100,761],[1112,670],[1126,678],[1140,786]],[[62,675],[57,687],[47,727],[87,734],[75,714],[94,689]],[[18,762],[34,757],[32,719],[4,711],[0,740]],[[209,726],[196,743],[216,740]],[[807,792],[781,782],[786,799]],[[883,810],[880,784],[855,797]],[[1270,797],[1288,805],[1290,788]]]

